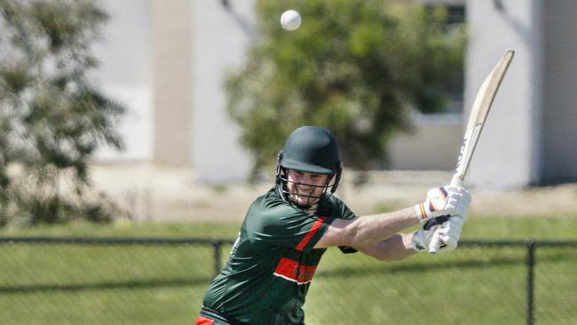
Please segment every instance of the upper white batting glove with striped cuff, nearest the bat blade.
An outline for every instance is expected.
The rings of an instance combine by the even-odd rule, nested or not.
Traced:
[[[464,219],[467,218],[469,203],[470,193],[464,187],[435,187],[427,192],[424,202],[415,205],[415,214],[421,223],[440,216],[459,215]]]

